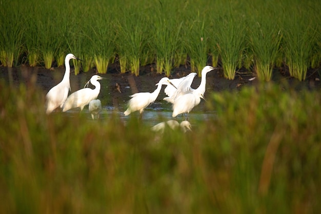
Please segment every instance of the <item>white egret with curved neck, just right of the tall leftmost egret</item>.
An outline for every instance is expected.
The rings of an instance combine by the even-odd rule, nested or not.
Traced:
[[[81,110],[84,109],[86,105],[89,104],[90,101],[95,100],[101,91],[101,84],[98,80],[102,80],[103,77],[98,75],[93,75],[90,80],[86,83],[85,87],[89,84],[89,82],[95,86],[94,89],[91,88],[83,88],[78,91],[73,92],[67,98],[64,103],[63,111],[68,111],[72,108],[80,107]]]

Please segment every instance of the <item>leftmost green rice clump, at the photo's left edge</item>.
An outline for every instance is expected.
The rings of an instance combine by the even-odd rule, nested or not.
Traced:
[[[0,61],[7,67],[20,63],[19,57],[23,50],[25,23],[19,9],[21,7],[11,1],[0,9]]]

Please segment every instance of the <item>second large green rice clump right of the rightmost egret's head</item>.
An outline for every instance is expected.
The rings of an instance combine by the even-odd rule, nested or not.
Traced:
[[[270,22],[270,18],[256,21],[250,25],[250,47],[254,54],[254,69],[260,81],[269,82],[277,58],[282,34],[280,29]]]

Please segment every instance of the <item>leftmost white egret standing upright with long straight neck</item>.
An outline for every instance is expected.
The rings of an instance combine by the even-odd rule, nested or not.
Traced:
[[[70,91],[70,80],[69,80],[70,65],[69,65],[69,61],[71,59],[81,60],[81,59],[78,59],[76,56],[74,56],[72,53],[69,53],[66,55],[66,58],[65,58],[66,71],[65,71],[64,78],[63,78],[62,82],[60,82],[58,85],[52,87],[46,95],[46,99],[47,99],[46,113],[47,114],[51,113],[58,106],[60,106],[62,108],[64,102],[67,99],[68,92]]]

